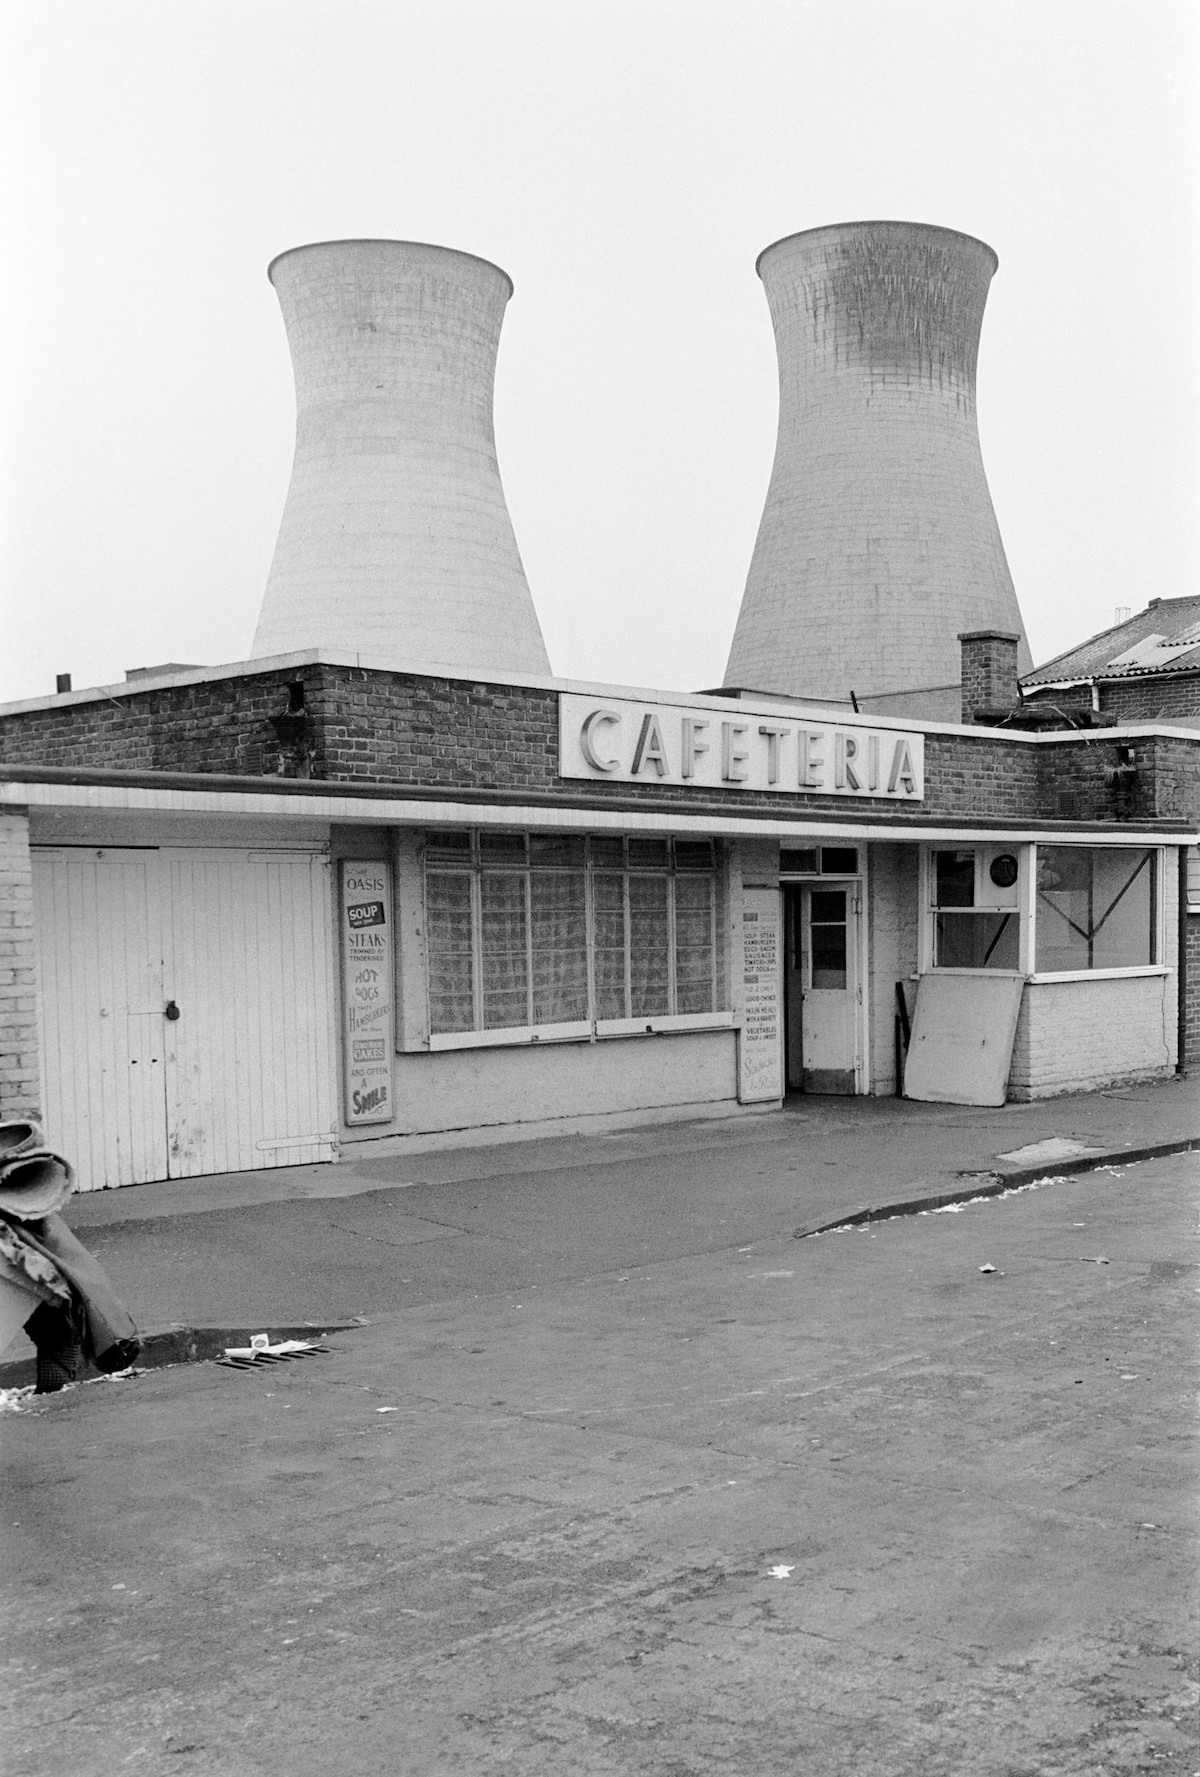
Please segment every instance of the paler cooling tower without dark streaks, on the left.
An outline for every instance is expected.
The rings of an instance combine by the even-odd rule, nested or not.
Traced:
[[[297,428],[254,657],[549,673],[492,432],[508,275],[446,247],[343,240],[295,247],[268,277]]]

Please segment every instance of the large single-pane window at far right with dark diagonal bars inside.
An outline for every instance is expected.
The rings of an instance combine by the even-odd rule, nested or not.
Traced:
[[[1038,846],[1038,974],[1154,963],[1156,904],[1154,851]]]

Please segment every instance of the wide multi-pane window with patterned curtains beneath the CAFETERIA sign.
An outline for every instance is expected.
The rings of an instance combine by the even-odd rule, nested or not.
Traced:
[[[727,1009],[711,841],[427,835],[434,1036]]]

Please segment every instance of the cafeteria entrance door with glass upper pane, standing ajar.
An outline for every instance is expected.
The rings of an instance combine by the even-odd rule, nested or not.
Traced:
[[[788,1086],[805,1093],[857,1088],[857,885],[789,890]]]

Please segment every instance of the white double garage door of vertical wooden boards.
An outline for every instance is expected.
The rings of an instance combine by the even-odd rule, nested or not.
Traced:
[[[332,1159],[329,862],[36,849],[46,1141],[80,1189]]]

